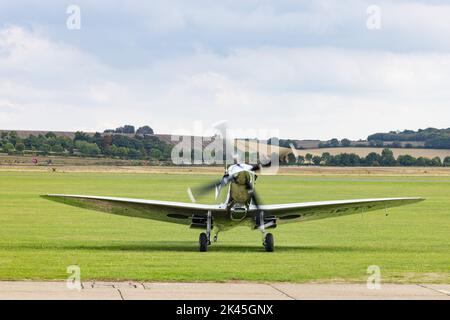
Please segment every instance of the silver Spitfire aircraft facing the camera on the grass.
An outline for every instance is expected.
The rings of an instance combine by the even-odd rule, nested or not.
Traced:
[[[129,217],[153,219],[188,225],[203,229],[199,237],[199,250],[207,251],[211,244],[211,233],[217,241],[219,231],[238,225],[248,225],[260,230],[266,251],[274,250],[274,238],[266,229],[278,224],[302,222],[314,219],[338,217],[372,210],[422,201],[422,198],[382,198],[320,202],[302,202],[261,205],[255,192],[256,172],[262,165],[233,164],[228,167],[219,182],[194,191],[205,193],[215,190],[216,198],[220,190],[228,187],[227,196],[221,204],[198,204],[172,201],[113,198],[81,195],[49,194],[46,199],[68,205],[97,210]],[[191,200],[193,192],[188,189]]]

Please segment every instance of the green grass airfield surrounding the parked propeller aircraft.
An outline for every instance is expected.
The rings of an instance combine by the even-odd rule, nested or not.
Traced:
[[[0,173],[0,279],[365,281],[378,265],[386,282],[450,282],[450,177],[261,176],[265,203],[423,196],[419,204],[273,231],[266,253],[257,231],[220,234],[197,252],[198,230],[46,201],[75,193],[188,202],[186,187],[210,175]]]

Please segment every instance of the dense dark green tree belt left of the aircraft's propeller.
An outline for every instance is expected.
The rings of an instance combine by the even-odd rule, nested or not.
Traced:
[[[172,146],[152,134],[138,134],[137,132],[131,136],[118,133],[100,134],[97,132],[94,135],[89,135],[84,132],[76,132],[73,139],[48,132],[45,135],[29,135],[22,139],[16,132],[10,131],[2,132],[0,149],[8,154],[27,152],[36,155],[170,160]]]

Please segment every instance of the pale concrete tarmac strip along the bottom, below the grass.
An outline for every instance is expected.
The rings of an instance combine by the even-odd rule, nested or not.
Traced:
[[[450,300],[450,284],[0,281],[0,300]]]

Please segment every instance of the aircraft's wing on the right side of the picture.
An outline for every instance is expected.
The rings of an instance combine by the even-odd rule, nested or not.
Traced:
[[[338,201],[319,201],[287,204],[261,205],[266,216],[276,216],[277,223],[300,222],[367,211],[387,209],[423,201],[423,198],[382,198]],[[256,208],[252,208],[256,212]]]

